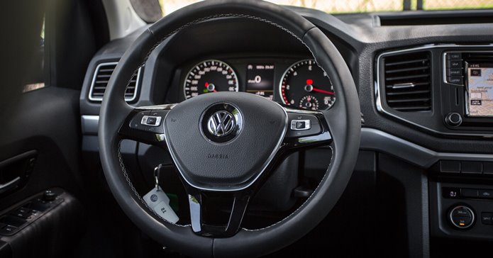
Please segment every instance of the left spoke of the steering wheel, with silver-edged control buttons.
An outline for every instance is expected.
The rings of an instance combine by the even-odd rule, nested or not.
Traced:
[[[175,104],[133,108],[118,130],[121,138],[165,147],[165,117]]]

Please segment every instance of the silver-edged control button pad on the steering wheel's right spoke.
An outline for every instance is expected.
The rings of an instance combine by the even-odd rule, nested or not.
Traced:
[[[301,113],[287,113],[287,116],[290,125],[286,133],[286,137],[288,138],[318,135],[322,131],[320,122],[316,116]]]

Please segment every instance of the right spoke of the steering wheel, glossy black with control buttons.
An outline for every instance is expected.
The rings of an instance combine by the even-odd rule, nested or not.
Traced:
[[[301,150],[330,145],[332,135],[323,112],[284,108],[287,113],[287,131],[284,135],[284,150]]]

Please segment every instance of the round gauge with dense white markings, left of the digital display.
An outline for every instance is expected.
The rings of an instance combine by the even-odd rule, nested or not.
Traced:
[[[238,91],[238,77],[233,68],[219,60],[195,64],[185,77],[185,98],[216,91]]]

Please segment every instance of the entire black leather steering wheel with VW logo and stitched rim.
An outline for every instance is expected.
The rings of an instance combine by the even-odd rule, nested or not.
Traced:
[[[164,40],[216,18],[248,18],[275,26],[306,45],[337,94],[328,110],[281,106],[254,94],[201,94],[177,104],[129,106],[132,74]],[[159,126],[143,125],[144,116]],[[297,130],[302,122],[306,130]],[[300,125],[300,126],[301,126]],[[99,152],[106,181],[123,211],[162,245],[193,257],[255,257],[298,240],[328,214],[355,166],[360,104],[343,57],[321,30],[297,13],[265,1],[203,1],[150,26],[125,52],[109,80],[99,115]],[[189,196],[190,225],[163,220],[135,190],[121,159],[123,139],[166,148]],[[258,230],[241,227],[248,203],[287,154],[329,145],[332,160],[314,193],[283,220]],[[204,194],[234,197],[226,225],[204,223]]]

